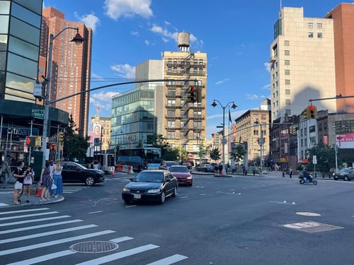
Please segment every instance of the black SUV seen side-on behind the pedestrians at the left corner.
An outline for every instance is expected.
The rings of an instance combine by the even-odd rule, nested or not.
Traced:
[[[87,186],[105,181],[105,172],[84,167],[75,162],[62,162],[63,183],[85,183]]]

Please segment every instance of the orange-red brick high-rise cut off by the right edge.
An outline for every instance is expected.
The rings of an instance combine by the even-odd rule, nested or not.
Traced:
[[[333,20],[336,95],[354,95],[354,4],[342,3],[326,14]],[[354,112],[354,98],[337,100],[337,112]]]

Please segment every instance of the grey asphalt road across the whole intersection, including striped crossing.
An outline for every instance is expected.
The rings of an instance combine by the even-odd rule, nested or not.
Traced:
[[[127,205],[127,177],[27,212],[1,209],[1,264],[354,264],[354,182],[194,175],[193,187],[163,205]],[[75,243],[118,248],[77,253]]]

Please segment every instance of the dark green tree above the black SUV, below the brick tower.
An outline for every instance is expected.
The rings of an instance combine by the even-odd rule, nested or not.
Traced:
[[[64,147],[63,147],[63,156],[65,160],[84,160],[86,158],[87,148],[90,146],[89,136],[82,136],[77,134],[78,129],[72,117],[72,114],[69,116],[69,124],[64,129]]]

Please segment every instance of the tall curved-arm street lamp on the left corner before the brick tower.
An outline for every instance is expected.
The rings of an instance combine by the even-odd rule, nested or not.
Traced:
[[[50,76],[52,73],[52,52],[53,52],[53,40],[55,40],[60,34],[62,34],[65,30],[73,29],[76,30],[75,37],[71,40],[71,42],[75,42],[76,45],[81,45],[84,41],[84,38],[79,34],[79,28],[67,27],[57,33],[57,35],[50,34],[50,42],[49,42],[49,53],[48,53],[48,67],[47,67],[47,78],[45,81],[47,82],[47,90],[45,91],[45,110],[44,110],[44,118],[43,118],[43,134],[42,134],[42,167],[45,166],[45,150],[47,149],[47,134],[48,134],[48,119],[49,119],[49,106],[50,106]]]

